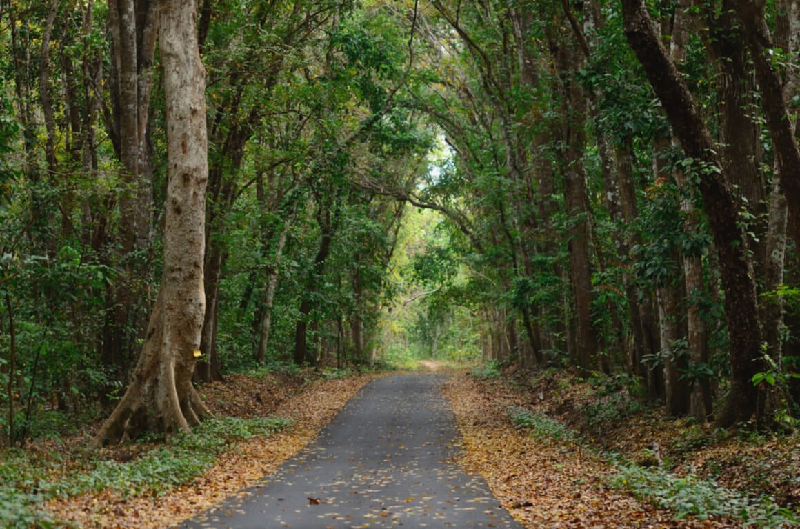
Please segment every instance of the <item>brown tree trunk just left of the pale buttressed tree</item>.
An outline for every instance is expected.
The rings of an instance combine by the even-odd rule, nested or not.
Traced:
[[[112,113],[107,118],[119,161],[118,246],[122,273],[106,295],[102,363],[124,379],[136,340],[146,327],[146,281],[152,246],[153,166],[149,143],[150,93],[156,41],[155,0],[112,0],[109,86]]]

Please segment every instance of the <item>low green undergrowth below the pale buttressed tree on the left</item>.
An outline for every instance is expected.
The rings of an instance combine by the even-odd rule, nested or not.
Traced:
[[[54,521],[38,506],[56,496],[91,491],[113,491],[122,497],[162,495],[202,475],[230,443],[290,426],[289,419],[276,416],[210,419],[192,434],[177,435],[166,446],[125,463],[83,460],[82,471],[61,479],[51,477],[53,462],[9,452],[0,461],[0,527],[51,527]]]

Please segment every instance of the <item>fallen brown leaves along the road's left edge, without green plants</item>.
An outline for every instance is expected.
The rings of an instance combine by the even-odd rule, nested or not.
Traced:
[[[238,441],[202,477],[166,494],[121,495],[102,490],[51,500],[48,510],[54,518],[75,527],[173,526],[270,474],[310,443],[364,384],[378,376],[382,374],[350,373],[342,378],[326,378],[313,371],[230,375],[224,383],[202,387],[215,415],[243,419],[272,415],[290,419],[292,427]],[[154,447],[153,443],[125,443],[104,448],[103,455],[126,461]]]

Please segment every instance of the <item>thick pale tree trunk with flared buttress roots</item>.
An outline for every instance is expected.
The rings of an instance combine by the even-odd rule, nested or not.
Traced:
[[[205,70],[198,53],[194,1],[164,0],[159,40],[166,98],[169,183],[164,273],[130,386],[94,443],[143,431],[190,431],[209,413],[191,383],[206,299],[203,293],[208,178]]]

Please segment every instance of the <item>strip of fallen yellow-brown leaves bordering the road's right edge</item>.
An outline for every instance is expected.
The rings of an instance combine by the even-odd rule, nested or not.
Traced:
[[[514,427],[508,410],[529,395],[502,380],[459,373],[445,394],[466,450],[462,464],[483,476],[525,527],[736,527],[730,519],[674,519],[610,485],[615,470],[573,439],[544,439]]]

